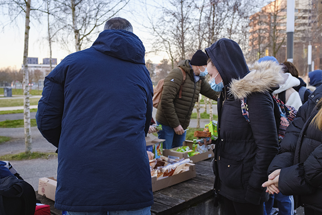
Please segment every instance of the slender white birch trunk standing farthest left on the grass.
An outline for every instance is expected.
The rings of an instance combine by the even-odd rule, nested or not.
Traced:
[[[23,52],[23,121],[25,128],[25,152],[31,150],[31,130],[30,130],[30,102],[29,102],[29,73],[28,73],[28,43],[29,43],[29,16],[31,0],[26,2],[26,25],[25,25],[25,45]]]

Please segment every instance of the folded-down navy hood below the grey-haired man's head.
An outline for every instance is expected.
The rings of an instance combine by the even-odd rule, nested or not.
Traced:
[[[145,64],[145,48],[138,36],[125,30],[105,30],[92,47],[105,55],[124,61]]]

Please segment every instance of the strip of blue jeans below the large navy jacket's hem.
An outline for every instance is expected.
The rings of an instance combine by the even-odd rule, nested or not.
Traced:
[[[67,215],[151,215],[151,206],[128,211],[110,212],[67,212]]]

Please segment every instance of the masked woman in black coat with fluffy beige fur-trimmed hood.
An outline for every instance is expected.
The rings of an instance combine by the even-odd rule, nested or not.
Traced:
[[[215,199],[225,215],[263,215],[268,194],[261,185],[278,152],[271,88],[282,80],[281,66],[265,61],[248,68],[239,45],[225,38],[206,48],[206,53],[211,86],[221,92],[214,151]],[[242,114],[244,97],[249,122]]]

